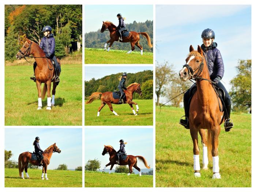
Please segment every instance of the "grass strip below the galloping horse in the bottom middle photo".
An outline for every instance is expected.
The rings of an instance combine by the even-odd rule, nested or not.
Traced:
[[[85,187],[153,187],[153,176],[126,173],[84,172]]]

